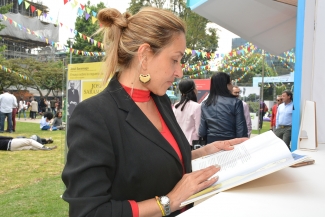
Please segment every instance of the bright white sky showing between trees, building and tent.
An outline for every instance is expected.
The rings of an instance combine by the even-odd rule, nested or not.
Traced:
[[[78,7],[74,9],[71,6],[71,2],[75,1],[80,4],[86,4],[88,0],[71,0],[64,5],[64,0],[32,0],[34,2],[42,2],[43,5],[49,7],[50,13],[47,19],[52,18],[53,23],[56,20],[63,23],[64,26],[74,29],[74,23],[77,18]],[[126,8],[129,7],[131,0],[91,0],[92,5],[96,5],[103,2],[105,6],[118,9],[120,12],[125,12]],[[50,21],[50,20],[49,20]],[[50,21],[51,22],[51,21]],[[217,53],[228,53],[231,51],[232,38],[238,38],[239,36],[228,31],[227,29],[217,25],[209,24],[209,27],[217,28],[219,35],[219,48]],[[69,37],[73,37],[74,34],[67,28],[60,28],[60,42],[66,43]],[[216,60],[218,61],[218,60]]]

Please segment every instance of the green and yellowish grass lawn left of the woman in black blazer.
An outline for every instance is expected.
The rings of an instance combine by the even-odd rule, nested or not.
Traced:
[[[36,134],[52,137],[52,151],[0,151],[0,216],[68,216],[62,195],[61,172],[65,161],[65,131],[41,131],[38,123],[17,122],[16,132],[1,136]]]

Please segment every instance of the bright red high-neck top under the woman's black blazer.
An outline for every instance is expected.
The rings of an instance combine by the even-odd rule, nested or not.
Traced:
[[[130,87],[122,85],[124,90],[131,96],[134,102],[148,102],[151,99],[150,96],[150,91],[149,90],[139,90],[139,89],[132,89]],[[157,107],[156,107],[157,108]],[[157,111],[159,113],[159,119],[162,125],[162,131],[160,132],[161,135],[169,142],[169,144],[174,148],[175,152],[177,153],[180,161],[182,162],[183,165],[183,173],[185,171],[184,169],[184,162],[183,162],[183,156],[181,153],[181,150],[178,147],[178,144],[173,136],[173,134],[170,132],[169,128],[167,127],[164,119],[161,117],[161,114],[157,108]],[[129,203],[132,208],[132,214],[133,217],[139,217],[139,207],[136,201],[134,200],[129,200]]]

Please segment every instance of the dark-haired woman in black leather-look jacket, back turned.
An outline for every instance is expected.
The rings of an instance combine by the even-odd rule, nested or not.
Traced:
[[[243,103],[232,95],[230,76],[218,72],[211,77],[210,94],[202,103],[199,135],[207,143],[247,137]]]

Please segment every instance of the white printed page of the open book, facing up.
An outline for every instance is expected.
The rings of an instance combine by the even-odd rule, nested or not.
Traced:
[[[235,175],[247,174],[279,159],[292,159],[285,143],[272,131],[235,145],[231,151],[221,151],[192,161],[192,170],[219,165],[219,176],[215,184]]]

